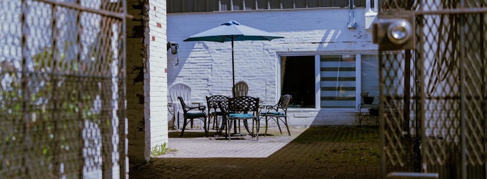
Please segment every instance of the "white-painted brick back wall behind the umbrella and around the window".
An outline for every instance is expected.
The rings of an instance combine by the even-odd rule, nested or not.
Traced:
[[[249,96],[275,104],[276,54],[303,52],[371,52],[377,50],[365,29],[364,8],[355,8],[356,29],[348,29],[348,8],[270,11],[174,13],[168,15],[168,40],[179,43],[179,62],[168,54],[168,85],[183,81],[192,86],[192,98],[231,95],[231,42],[183,42],[188,36],[236,20],[243,25],[284,36],[272,41],[236,41],[235,81],[248,83]],[[312,69],[303,69],[312,70]],[[357,110],[290,109],[292,125],[355,125]]]

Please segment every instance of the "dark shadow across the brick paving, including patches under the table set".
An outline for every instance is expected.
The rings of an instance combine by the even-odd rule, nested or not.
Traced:
[[[274,131],[275,132],[275,131]],[[179,137],[179,131],[169,132]],[[272,132],[270,132],[272,133]],[[311,127],[292,129],[292,141],[265,158],[151,158],[151,163],[130,168],[130,179],[377,179],[380,178],[379,130],[377,128]],[[211,135],[212,133],[210,133]],[[249,141],[261,147],[272,146],[278,132],[265,140]],[[204,132],[185,131],[194,141]],[[261,139],[261,137],[259,137]],[[233,138],[232,138],[233,139]],[[252,139],[253,140],[253,139]],[[220,141],[231,144],[231,141]],[[238,142],[238,141],[235,141]],[[236,144],[236,143],[234,143]],[[215,146],[218,147],[218,146]],[[176,148],[177,149],[177,148]],[[201,148],[211,152],[212,148]],[[239,152],[230,148],[229,152]]]

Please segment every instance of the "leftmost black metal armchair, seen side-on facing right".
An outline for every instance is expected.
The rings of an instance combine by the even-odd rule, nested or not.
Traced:
[[[184,134],[184,130],[186,129],[187,123],[192,122],[193,119],[200,119],[201,122],[204,124],[203,130],[205,130],[205,136],[208,136],[208,129],[206,128],[206,106],[188,106],[185,102],[184,99],[181,97],[178,97],[181,107],[183,109],[183,117],[184,117],[184,122],[183,122],[183,129],[181,130],[181,135],[179,137],[182,137]],[[189,121],[188,121],[189,119]]]

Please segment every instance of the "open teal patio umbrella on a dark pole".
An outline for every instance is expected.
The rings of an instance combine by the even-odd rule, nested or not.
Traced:
[[[268,33],[255,28],[244,26],[237,21],[231,20],[218,27],[207,30],[202,33],[198,33],[189,36],[185,42],[188,41],[210,41],[210,42],[232,42],[232,76],[233,85],[235,86],[235,67],[233,61],[233,41],[244,40],[268,40],[271,41],[275,38],[284,38],[283,36],[276,35],[274,33]],[[233,96],[235,96],[234,88],[232,87]]]

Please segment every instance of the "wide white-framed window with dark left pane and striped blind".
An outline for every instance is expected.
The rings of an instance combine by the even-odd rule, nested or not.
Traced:
[[[356,109],[362,90],[379,95],[377,54],[281,56],[280,63],[281,95],[293,96],[289,107]]]

